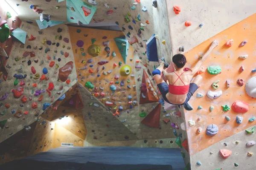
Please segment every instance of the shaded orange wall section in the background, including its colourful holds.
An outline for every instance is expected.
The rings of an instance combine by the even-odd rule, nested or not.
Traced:
[[[122,55],[115,39],[122,37],[123,33],[79,27],[69,27],[69,31],[78,82],[90,89],[92,95],[113,113],[136,107],[133,50],[124,42]],[[122,71],[126,68],[130,73],[124,75]],[[127,99],[128,96],[131,99]]]

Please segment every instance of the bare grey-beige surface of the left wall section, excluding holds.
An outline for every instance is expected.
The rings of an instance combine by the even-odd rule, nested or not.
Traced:
[[[61,27],[62,32],[58,33],[57,29]],[[1,91],[0,96],[8,94],[8,97],[1,101],[1,108],[0,112],[5,114],[0,116],[0,121],[6,120],[6,125],[9,128],[4,127],[0,130],[0,142],[7,139],[12,134],[15,134],[19,130],[23,129],[24,125],[30,125],[32,122],[35,122],[38,118],[35,116],[35,112],[38,111],[39,114],[43,112],[42,108],[45,102],[52,104],[55,102],[62,94],[64,94],[70,87],[72,87],[76,83],[76,68],[75,65],[73,66],[73,71],[69,75],[68,79],[70,79],[70,84],[67,82],[58,81],[58,73],[59,69],[63,67],[67,62],[74,62],[73,53],[71,49],[70,42],[64,42],[64,38],[70,39],[67,26],[62,25],[59,27],[52,27],[42,31],[42,34],[39,34],[37,26],[29,25],[28,23],[23,23],[21,28],[24,31],[27,31],[27,34],[30,38],[30,35],[33,35],[35,40],[29,41],[26,39],[26,44],[21,45],[19,42],[15,42],[10,57],[8,59],[7,65],[10,68],[6,67],[8,72],[8,78],[1,83]],[[62,36],[62,39],[55,40],[55,35]],[[42,44],[43,40],[49,40],[51,43],[56,43],[55,45],[47,45],[47,43]],[[59,46],[57,47],[57,43]],[[35,49],[36,48],[36,49]],[[42,48],[41,50],[39,48]],[[45,51],[49,48],[50,51]],[[23,57],[25,51],[34,52],[35,56],[31,57],[28,55],[27,57]],[[64,57],[61,52],[69,53],[68,57]],[[28,53],[29,54],[29,53]],[[33,54],[33,53],[32,53]],[[67,56],[67,55],[66,55]],[[53,67],[49,66],[50,62],[55,62]],[[6,65],[6,66],[7,66]],[[36,70],[35,74],[39,74],[40,77],[38,79],[34,79],[35,74],[32,74],[31,67],[34,67]],[[43,68],[47,68],[48,73],[45,74],[46,79],[41,80],[43,74]],[[17,79],[17,85],[14,85],[15,74],[27,75],[24,79]],[[20,85],[20,83],[24,80],[25,85]],[[52,82],[54,84],[54,89],[51,92],[50,96],[49,93],[45,90],[49,87],[49,83]],[[34,83],[37,84],[37,87],[32,86]],[[61,86],[63,89],[61,90]],[[12,93],[12,89],[17,89],[23,87],[23,95],[19,98],[15,98],[14,94]],[[38,101],[41,95],[35,96],[36,90],[44,90],[45,92],[42,93],[43,99]],[[60,92],[60,94],[57,94]],[[21,101],[22,97],[26,96],[27,101],[23,103]],[[31,97],[31,101],[29,100]],[[33,109],[32,103],[37,102],[38,108]],[[10,104],[10,108],[6,109],[5,104]],[[14,113],[12,113],[12,111]],[[28,111],[28,114],[22,114],[20,118],[14,117],[17,111]]]

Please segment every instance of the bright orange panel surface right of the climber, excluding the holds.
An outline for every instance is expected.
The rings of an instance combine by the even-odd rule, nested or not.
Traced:
[[[201,74],[203,77],[201,87],[189,101],[194,109],[185,112],[190,155],[198,153],[210,145],[232,136],[241,130],[256,125],[256,121],[248,122],[250,118],[256,116],[256,99],[252,99],[246,94],[245,86],[240,87],[236,83],[239,78],[243,78],[245,82],[247,82],[251,77],[256,76],[256,73],[251,73],[252,69],[256,68],[255,21],[256,14],[253,14],[184,54],[188,60],[188,67],[191,68],[191,65],[194,65],[198,61],[200,54],[206,52],[213,40],[219,41],[219,45],[212,51],[203,66],[204,69],[207,69],[209,66],[219,65],[222,69],[221,74],[211,75],[208,74],[206,70]],[[224,45],[229,39],[234,40],[234,44],[231,47]],[[247,40],[247,44],[243,47],[239,47],[240,43],[244,40]],[[239,59],[239,56],[245,54],[248,54],[247,59]],[[245,70],[240,73],[239,68],[241,65],[244,65]],[[230,80],[230,88],[226,87],[227,79]],[[216,80],[220,80],[218,83],[219,88],[214,90],[211,85]],[[218,99],[210,99],[206,95],[209,90],[222,90],[223,94]],[[197,93],[204,94],[204,97],[196,98]],[[249,111],[244,114],[235,113],[231,105],[236,100],[249,103]],[[203,109],[197,110],[199,105],[201,105]],[[215,107],[212,112],[209,111],[211,105]],[[222,111],[221,105],[229,105],[231,108],[230,111]],[[228,122],[225,116],[230,116],[231,120]],[[236,116],[243,116],[244,120],[241,124],[236,123]],[[199,117],[201,118],[200,121],[198,121]],[[192,127],[190,127],[188,123],[190,119],[195,121],[195,125]],[[206,128],[211,124],[218,126],[219,130],[215,136],[206,135]],[[198,127],[203,129],[201,133],[197,133]]]

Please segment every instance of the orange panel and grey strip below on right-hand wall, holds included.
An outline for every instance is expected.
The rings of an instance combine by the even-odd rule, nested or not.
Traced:
[[[203,64],[201,87],[189,101],[194,109],[185,113],[192,169],[231,169],[238,164],[251,169],[247,152],[253,152],[255,144],[250,136],[255,125],[255,20],[253,14],[184,54],[191,68],[213,40],[219,41]]]

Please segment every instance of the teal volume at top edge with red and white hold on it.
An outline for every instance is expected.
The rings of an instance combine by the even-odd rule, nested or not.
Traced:
[[[84,3],[81,0],[66,0],[67,3],[67,22],[81,23],[87,25],[95,14],[96,7]]]

